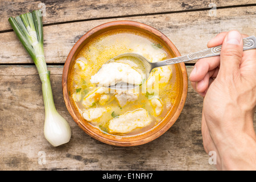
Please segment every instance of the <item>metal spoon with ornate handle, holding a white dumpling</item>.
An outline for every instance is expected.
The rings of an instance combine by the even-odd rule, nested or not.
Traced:
[[[202,51],[194,52],[189,55],[185,56],[179,56],[179,57],[174,57],[172,59],[167,59],[164,61],[159,61],[155,63],[150,63],[145,57],[142,55],[139,55],[138,53],[123,53],[121,55],[115,56],[112,59],[110,59],[108,62],[105,64],[108,64],[110,61],[115,61],[120,59],[121,57],[134,57],[137,60],[141,61],[141,63],[144,65],[144,75],[146,76],[146,79],[143,80],[142,84],[147,80],[149,73],[152,71],[152,69],[157,68],[157,67],[163,67],[165,65],[171,65],[171,64],[176,64],[176,63],[182,63],[185,61],[191,61],[195,59],[201,59],[204,57],[212,57],[212,56],[218,56],[220,55],[221,52],[221,45],[204,49]],[[253,49],[256,48],[256,38],[255,36],[249,36],[247,38],[243,39],[243,51],[248,50],[248,49]],[[110,85],[109,88],[115,89],[115,90],[128,90],[128,89],[134,89],[139,85],[133,85],[133,84],[127,84],[124,82],[120,82],[115,85]]]

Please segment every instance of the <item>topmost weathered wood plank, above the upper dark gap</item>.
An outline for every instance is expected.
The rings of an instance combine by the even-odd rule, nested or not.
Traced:
[[[43,2],[44,5],[40,5]],[[43,23],[59,23],[73,20],[108,18],[113,16],[143,15],[152,13],[175,12],[209,8],[212,1],[184,1],[184,0],[104,0],[104,1],[0,1],[0,31],[10,30],[7,21],[10,16],[16,16],[28,11],[45,8],[46,16]],[[248,5],[253,0],[216,1],[218,7]]]

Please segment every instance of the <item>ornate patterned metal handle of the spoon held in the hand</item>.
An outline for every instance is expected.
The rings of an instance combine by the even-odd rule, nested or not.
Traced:
[[[218,56],[218,55],[220,55],[221,47],[222,46],[220,45],[220,46],[204,49],[202,51],[194,52],[189,55],[179,56],[179,57],[174,57],[172,59],[159,61],[159,62],[154,63],[154,68],[162,67],[164,65],[169,65],[169,64],[176,64],[176,63],[181,63],[181,62],[185,62],[185,61],[195,60],[195,59],[201,59],[204,57]],[[256,48],[255,36],[249,36],[249,37],[243,39],[243,51],[248,50],[248,49],[254,49],[254,48]]]

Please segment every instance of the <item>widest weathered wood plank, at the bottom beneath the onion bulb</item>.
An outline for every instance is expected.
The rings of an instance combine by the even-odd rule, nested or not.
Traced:
[[[52,147],[44,138],[43,97],[36,68],[0,65],[1,170],[216,169],[208,163],[202,144],[203,99],[190,84],[184,109],[170,130],[142,146],[117,147],[89,137],[76,125],[61,92],[63,67],[51,66],[49,70],[56,109],[71,125],[71,140]],[[187,67],[187,71],[189,75],[192,67]],[[40,160],[43,155],[44,164]]]

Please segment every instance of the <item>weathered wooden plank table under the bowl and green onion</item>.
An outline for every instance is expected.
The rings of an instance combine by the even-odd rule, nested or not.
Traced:
[[[184,109],[158,139],[117,147],[89,137],[64,104],[61,76],[72,46],[86,31],[113,20],[134,20],[160,30],[181,55],[207,48],[222,31],[255,35],[255,0],[0,1],[0,169],[1,170],[216,170],[208,162],[201,135],[201,98],[189,83]],[[44,51],[57,111],[71,125],[69,143],[52,147],[43,134],[41,82],[31,58],[7,21],[46,8]],[[217,10],[214,10],[217,7]],[[188,76],[195,62],[187,63]],[[255,119],[254,119],[255,120]],[[255,124],[255,122],[254,122]]]

